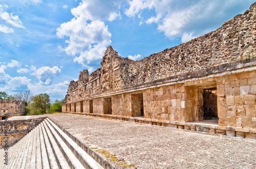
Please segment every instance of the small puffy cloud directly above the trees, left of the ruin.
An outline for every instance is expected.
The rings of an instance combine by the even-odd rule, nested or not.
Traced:
[[[60,73],[57,66],[50,68],[48,66],[37,69],[32,75],[35,75],[41,85],[51,85],[53,78]]]

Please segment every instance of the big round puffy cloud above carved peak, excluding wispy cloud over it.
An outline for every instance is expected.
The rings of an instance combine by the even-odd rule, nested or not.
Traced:
[[[93,60],[100,59],[106,46],[111,44],[111,33],[103,21],[94,20],[87,23],[86,18],[78,16],[57,29],[58,37],[69,37],[67,54],[75,56],[74,62],[85,66]],[[78,57],[76,55],[79,55]]]

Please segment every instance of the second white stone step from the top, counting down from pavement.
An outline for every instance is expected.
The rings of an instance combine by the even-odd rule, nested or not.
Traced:
[[[60,136],[56,133],[53,127],[49,124],[48,121],[45,121],[48,126],[53,138],[56,141],[56,144],[59,146],[60,151],[64,154],[69,166],[71,168],[84,168],[84,166],[80,163],[80,161],[76,158],[74,153],[68,148],[68,146],[63,142]]]

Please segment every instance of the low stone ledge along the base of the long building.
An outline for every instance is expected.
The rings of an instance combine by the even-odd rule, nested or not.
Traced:
[[[138,117],[125,117],[116,115],[90,114],[87,112],[67,112],[67,114],[84,115],[89,117],[103,118],[109,120],[127,121],[141,124],[157,125],[162,127],[170,127],[176,129],[184,129],[198,132],[206,132],[218,135],[237,136],[242,138],[256,139],[256,129],[242,128],[242,127],[226,127],[214,124],[189,123],[189,122],[175,122],[162,121],[156,119],[144,119]]]

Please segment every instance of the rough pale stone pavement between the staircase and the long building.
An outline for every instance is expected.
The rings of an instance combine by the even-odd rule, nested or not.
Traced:
[[[50,118],[94,150],[107,150],[131,168],[256,167],[256,140],[79,115]],[[112,162],[123,168],[116,163]]]

